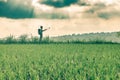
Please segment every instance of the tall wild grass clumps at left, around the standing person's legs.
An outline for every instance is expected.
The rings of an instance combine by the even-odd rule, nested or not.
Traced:
[[[53,42],[50,40],[49,36],[44,37],[42,42],[40,43],[50,43]],[[39,37],[37,36],[31,36],[28,37],[28,35],[24,34],[19,36],[18,38],[15,38],[13,35],[10,35],[8,37],[0,39],[0,44],[38,44],[39,43]]]

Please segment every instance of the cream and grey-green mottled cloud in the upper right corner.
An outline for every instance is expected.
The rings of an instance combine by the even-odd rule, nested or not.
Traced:
[[[85,11],[87,14],[83,14],[84,16],[94,16],[101,19],[111,19],[111,18],[119,18],[120,17],[120,5],[111,4],[106,5],[105,3],[97,3],[91,5],[89,9]]]

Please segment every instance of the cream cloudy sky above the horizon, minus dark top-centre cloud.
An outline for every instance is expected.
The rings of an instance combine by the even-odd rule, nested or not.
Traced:
[[[0,38],[22,34],[38,36],[40,25],[51,27],[44,33],[45,36],[120,31],[120,0],[85,0],[89,5],[71,4],[60,8],[31,1],[0,0]],[[69,18],[46,19],[53,13]],[[45,18],[41,18],[43,14]]]

